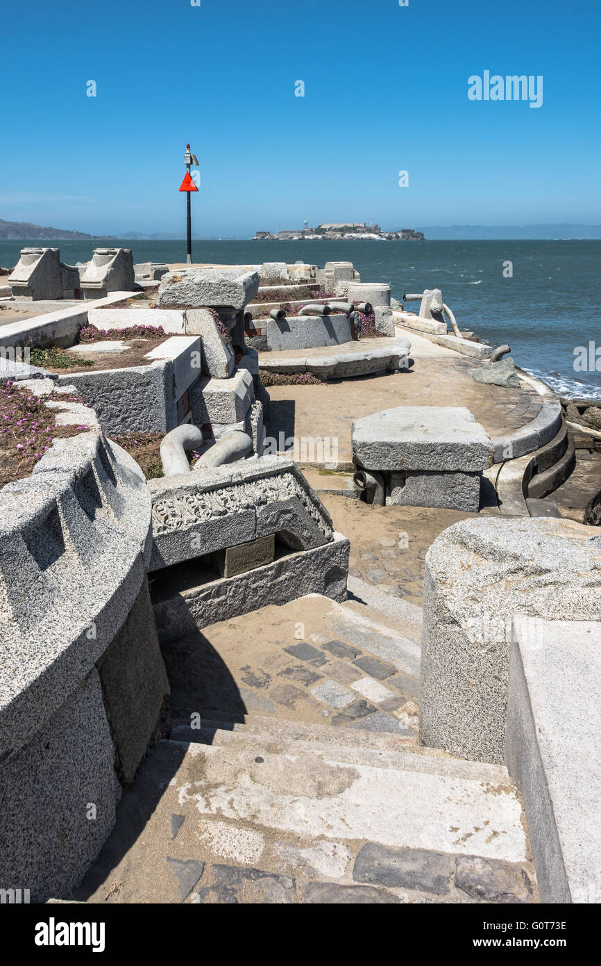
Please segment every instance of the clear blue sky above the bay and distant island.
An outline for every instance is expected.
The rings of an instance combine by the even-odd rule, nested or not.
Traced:
[[[33,0],[3,25],[0,218],[176,232],[189,140],[204,237],[601,222],[597,0]],[[483,71],[541,74],[542,106],[469,100]]]

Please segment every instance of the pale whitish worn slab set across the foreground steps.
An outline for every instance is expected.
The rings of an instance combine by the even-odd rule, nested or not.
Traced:
[[[259,826],[299,836],[311,830],[314,838],[367,839],[445,852],[457,850],[459,842],[463,850],[469,841],[470,851],[485,857],[526,858],[517,799],[510,793],[491,795],[485,786],[486,779],[504,786],[505,769],[491,767],[484,778],[479,768],[450,759],[402,752],[376,757],[359,750],[337,755],[317,748],[297,754],[286,767],[286,757],[268,753],[257,738],[253,746],[197,746],[195,771],[205,771],[208,781],[202,790],[179,785],[184,811],[189,802],[201,815],[252,814]],[[258,754],[262,767],[255,763]]]

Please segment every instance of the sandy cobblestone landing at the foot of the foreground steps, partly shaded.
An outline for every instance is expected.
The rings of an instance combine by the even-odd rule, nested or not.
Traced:
[[[174,719],[260,714],[415,739],[417,642],[395,627],[378,637],[375,623],[345,613],[303,598],[263,609],[260,635],[251,637],[251,614],[165,645]]]

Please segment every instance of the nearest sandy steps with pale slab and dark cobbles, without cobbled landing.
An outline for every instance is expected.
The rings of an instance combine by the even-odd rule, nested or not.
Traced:
[[[529,901],[528,849],[503,767],[238,733],[160,742],[74,897]]]

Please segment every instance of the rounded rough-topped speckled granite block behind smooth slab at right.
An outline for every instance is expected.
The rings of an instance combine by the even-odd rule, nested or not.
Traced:
[[[423,745],[504,760],[511,618],[601,619],[601,536],[555,519],[482,518],[425,559]]]

